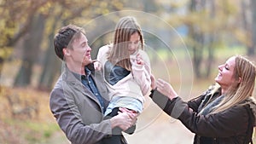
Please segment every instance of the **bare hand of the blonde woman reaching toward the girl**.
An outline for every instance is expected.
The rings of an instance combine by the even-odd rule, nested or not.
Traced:
[[[177,93],[172,88],[172,85],[160,78],[156,81],[155,87],[157,91],[159,91],[162,95],[166,95],[171,100],[177,97]]]

